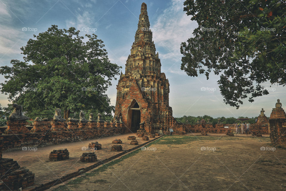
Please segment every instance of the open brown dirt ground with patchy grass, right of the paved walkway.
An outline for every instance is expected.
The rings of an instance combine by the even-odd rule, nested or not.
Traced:
[[[286,190],[286,150],[269,138],[164,136],[54,191]]]

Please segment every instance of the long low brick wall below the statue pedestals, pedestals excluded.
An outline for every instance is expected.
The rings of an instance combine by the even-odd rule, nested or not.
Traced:
[[[43,122],[44,123],[44,122]],[[102,124],[102,125],[100,125]],[[3,139],[3,150],[21,150],[22,147],[42,147],[52,144],[67,143],[80,140],[88,140],[101,136],[111,136],[122,134],[125,127],[122,124],[117,124],[116,127],[100,123],[94,129],[83,130],[64,130],[64,131],[43,131],[41,133],[25,133],[25,134],[2,134],[0,139]],[[37,123],[38,125],[38,123]],[[9,127],[8,127],[9,128]],[[38,128],[38,130],[41,128]],[[43,128],[45,129],[45,128]]]

